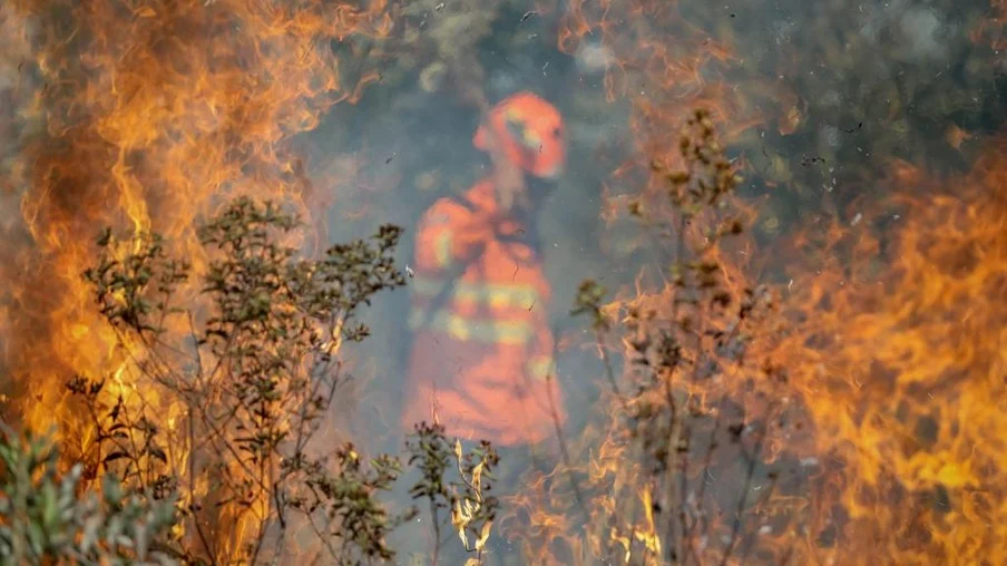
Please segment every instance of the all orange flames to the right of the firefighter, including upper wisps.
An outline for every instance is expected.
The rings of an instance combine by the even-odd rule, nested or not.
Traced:
[[[804,105],[789,89],[759,81],[742,97],[704,79],[730,64],[730,47],[692,30],[676,6],[573,2],[560,30],[567,52],[583,41],[610,48],[605,85],[610,99],[632,103],[636,155],[674,169],[674,134],[696,107],[712,111],[729,142],[770,119],[781,135],[801,126]],[[769,108],[756,100],[772,98],[779,101],[773,111],[754,110]],[[968,137],[956,129],[948,142],[965,148]],[[687,468],[684,481],[692,487],[682,507],[697,517],[683,523],[708,525],[695,531],[710,536],[678,560],[720,563],[725,548],[734,549],[733,562],[781,564],[1004,559],[1007,445],[996,431],[1007,414],[1000,329],[1007,315],[1007,136],[972,139],[987,152],[968,175],[926,180],[931,172],[896,162],[881,182],[893,196],[861,198],[848,215],[788,236],[782,253],[756,258],[760,250],[747,238],[714,252],[735,300],[754,282],[785,274],[772,290],[782,299],[783,319],[746,347],[755,365],[722,365],[718,379],[676,386],[683,407],[695,401],[736,440],[712,442],[705,457],[686,450],[708,466]],[[626,164],[614,177],[638,178],[642,165]],[[606,184],[603,219],[610,225],[632,206],[675,218],[662,209],[664,180],[651,177],[634,197]],[[751,225],[756,211],[731,204]],[[691,226],[692,246],[707,227]],[[653,241],[636,242],[647,244]],[[661,277],[656,289],[642,281],[603,311],[656,312],[655,321],[668,320],[680,292]],[[609,357],[632,358],[630,338],[620,344],[608,338],[602,348]],[[629,378],[622,375],[622,387]],[[554,472],[550,499],[510,501],[518,515],[530,516],[529,558],[654,563],[667,548],[673,533],[655,529],[659,505],[641,487],[649,480],[617,397],[603,394],[598,419],[570,441],[579,459]],[[717,430],[700,438],[716,438]],[[753,467],[746,470],[740,460]],[[575,500],[567,476],[580,481],[585,502]],[[542,513],[542,505],[555,513]]]

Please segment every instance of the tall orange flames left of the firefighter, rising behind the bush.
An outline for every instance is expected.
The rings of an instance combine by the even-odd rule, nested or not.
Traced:
[[[377,80],[333,46],[387,35],[392,11],[383,0],[16,0],[0,7],[0,23],[25,30],[0,40],[22,45],[3,50],[0,89],[26,138],[4,162],[0,195],[20,202],[20,218],[4,206],[0,222],[10,412],[37,429],[59,424],[68,449],[86,453],[92,424],[65,384],[110,375],[124,410],[159,403],[157,424],[174,430],[180,409],[124,370],[133,347],[119,348],[94,309],[81,273],[95,262],[95,237],[107,225],[158,232],[198,273],[193,228],[233,196],[273,198],[324,223],[292,144]],[[41,130],[30,135],[31,124]],[[186,455],[166,458],[179,467]],[[238,526],[223,553],[242,536]]]

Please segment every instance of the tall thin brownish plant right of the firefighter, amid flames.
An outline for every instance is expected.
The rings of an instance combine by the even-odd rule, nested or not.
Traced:
[[[667,273],[663,289],[612,303],[625,325],[624,379],[605,353],[613,329],[605,290],[585,281],[573,311],[592,318],[612,387],[607,412],[616,416],[608,438],[625,450],[632,470],[599,477],[590,486],[594,506],[615,511],[597,518],[594,540],[596,553],[608,559],[726,564],[737,552],[762,441],[775,413],[770,402],[757,421],[747,419],[730,384],[781,379],[776,369],[753,364],[749,352],[756,335],[769,338],[774,301],[765,290],[740,289],[718,258],[729,245],[725,240],[739,236],[744,221],[731,206],[739,177],[707,113],[698,110],[687,120],[677,153],[681,168],[654,164],[664,187],[657,198],[629,205],[675,255],[662,265]],[[735,519],[727,525],[707,511],[716,507],[707,488],[714,455],[725,440],[746,462]],[[770,492],[772,488],[763,496]]]

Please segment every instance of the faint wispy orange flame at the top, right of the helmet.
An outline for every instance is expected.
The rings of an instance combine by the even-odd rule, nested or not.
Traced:
[[[624,235],[620,226],[627,221],[628,195],[639,196],[645,207],[658,207],[653,212],[668,217],[667,211],[659,211],[665,179],[652,165],[667,169],[681,165],[677,131],[695,109],[707,110],[725,128],[725,143],[765,124],[770,116],[765,109],[775,105],[781,106],[781,114],[789,113],[780,120],[781,130],[800,121],[800,101],[791,90],[781,84],[737,77],[733,66],[740,58],[732,46],[691,23],[678,2],[569,2],[557,46],[569,55],[604,48],[609,53],[606,97],[615,103],[614,108],[628,106],[632,152],[606,179],[603,192],[603,219],[609,228],[616,227],[607,231],[609,237]],[[746,80],[744,88],[732,88],[739,78]],[[641,186],[645,188],[641,191]],[[645,235],[627,240],[612,247],[628,254],[653,243]]]

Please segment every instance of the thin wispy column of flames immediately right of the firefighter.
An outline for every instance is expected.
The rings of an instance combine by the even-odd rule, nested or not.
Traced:
[[[609,226],[633,223],[636,221],[629,218],[629,213],[637,211],[656,221],[643,231],[636,228],[638,236],[628,248],[615,250],[629,255],[635,250],[653,246],[655,240],[666,237],[669,228],[678,225],[678,216],[666,195],[666,172],[683,165],[678,133],[685,119],[697,108],[706,110],[725,130],[725,142],[732,142],[752,126],[763,124],[766,116],[752,98],[740,95],[739,89],[730,88],[723,80],[736,60],[731,46],[688,23],[678,12],[677,2],[570,2],[560,25],[558,47],[564,52],[577,53],[585,45],[602,46],[609,53],[605,91],[608,100],[628,106],[634,144],[632,158],[605,184],[603,219]],[[772,84],[760,86],[768,97],[774,89],[776,86]],[[784,110],[798,106],[794,97],[785,98],[784,104],[789,105]],[[780,127],[795,127],[799,121],[793,110],[789,121]],[[734,206],[740,218],[751,222],[754,214],[740,205]],[[691,246],[702,245],[713,219],[696,218],[688,226]],[[735,297],[742,294],[745,277],[741,266],[746,263],[736,258],[744,260],[750,252],[746,245],[723,251],[732,258],[724,262],[720,276]],[[674,253],[672,247],[666,246],[668,253]],[[672,258],[663,253],[656,255],[659,256],[656,270],[642,271],[633,289],[622,290],[615,302],[602,309],[612,322],[653,330],[658,321],[667,320],[676,295],[666,270]],[[634,321],[636,315],[630,314],[634,312],[639,316],[654,312],[655,319]],[[619,338],[622,334],[615,333],[597,342],[589,340],[584,347],[604,352],[608,359],[625,360],[632,352],[630,339],[626,336],[620,342]],[[620,399],[626,389],[633,388],[627,386],[633,380],[633,370],[627,364],[625,371],[614,365],[599,371],[612,371],[610,378],[625,389],[609,392],[608,386],[603,386],[604,392],[595,407],[599,414],[597,421],[575,433],[576,438],[570,440],[574,461],[560,463],[548,485],[541,486],[545,499],[539,490],[519,494],[508,501],[516,509],[508,519],[521,520],[505,521],[505,531],[518,525],[514,528],[525,543],[529,560],[593,564],[610,557],[651,564],[659,562],[669,547],[664,530],[671,513],[665,506],[666,494],[658,494],[648,485],[652,481],[648,465],[632,447],[635,431],[626,422],[630,407]],[[723,394],[724,387],[710,392],[711,399]],[[696,390],[676,394],[691,396],[691,402],[704,406],[706,393]],[[642,398],[638,404],[648,401],[664,402],[664,393],[655,393],[654,399]],[[577,481],[570,478],[581,478],[579,496],[571,487]],[[664,510],[658,511],[663,506]],[[521,523],[530,526],[521,529]]]

